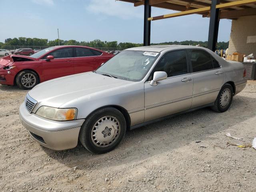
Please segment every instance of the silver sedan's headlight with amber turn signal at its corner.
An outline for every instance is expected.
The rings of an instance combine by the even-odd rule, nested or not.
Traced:
[[[41,106],[36,114],[46,119],[55,121],[70,121],[76,118],[77,110],[75,108],[60,109],[54,107]]]

